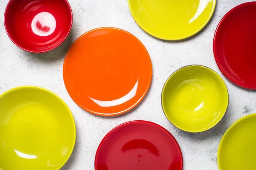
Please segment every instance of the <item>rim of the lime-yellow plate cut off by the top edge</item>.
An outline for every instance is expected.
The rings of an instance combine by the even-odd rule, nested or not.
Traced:
[[[193,35],[197,34],[199,31],[201,31],[207,25],[207,23],[209,23],[209,21],[211,20],[213,14],[214,14],[216,3],[217,3],[217,0],[212,0],[212,1],[213,1],[214,4],[213,4],[213,7],[212,7],[211,14],[209,15],[206,22],[200,28],[198,28],[195,32],[193,32],[192,34],[188,34],[187,36],[183,36],[183,37],[180,37],[180,38],[165,38],[165,37],[157,36],[154,33],[152,33],[151,31],[148,31],[148,29],[146,29],[144,26],[142,26],[142,24],[139,22],[139,20],[135,17],[135,14],[134,14],[134,12],[132,11],[132,8],[131,8],[131,0],[128,0],[128,6],[129,6],[130,13],[131,13],[133,19],[135,20],[135,22],[137,23],[137,25],[141,29],[143,29],[143,31],[145,31],[147,34],[149,34],[153,37],[156,37],[160,40],[177,41],[177,40],[185,40],[189,37],[192,37]]]

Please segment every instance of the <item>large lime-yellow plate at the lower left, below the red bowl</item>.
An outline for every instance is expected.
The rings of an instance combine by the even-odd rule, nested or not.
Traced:
[[[0,170],[59,170],[75,140],[72,113],[52,92],[24,86],[0,96]]]

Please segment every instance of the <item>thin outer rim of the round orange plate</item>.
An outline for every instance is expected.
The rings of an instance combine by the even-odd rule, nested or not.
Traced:
[[[132,37],[135,38],[135,40],[137,40],[141,45],[142,47],[144,48],[144,50],[147,52],[147,56],[148,56],[148,61],[149,61],[149,64],[150,64],[150,79],[149,79],[149,82],[148,82],[148,86],[144,92],[144,94],[140,97],[140,99],[134,103],[134,105],[132,105],[130,108],[124,110],[124,111],[120,111],[118,113],[96,113],[96,112],[93,112],[93,111],[90,111],[89,109],[85,108],[84,106],[82,106],[81,104],[79,104],[79,102],[75,101],[71,96],[70,92],[67,90],[67,85],[65,83],[65,80],[64,80],[64,66],[65,66],[65,63],[67,62],[67,55],[70,51],[70,49],[73,47],[73,45],[75,44],[76,41],[78,41],[81,37],[83,37],[84,35],[92,32],[92,31],[96,31],[96,30],[100,30],[100,29],[106,29],[106,28],[111,28],[111,29],[115,29],[115,30],[119,30],[119,31],[123,31],[127,34],[130,34]],[[112,117],[112,116],[118,116],[118,115],[122,115],[124,113],[128,113],[128,111],[131,111],[132,109],[136,108],[142,101],[143,99],[145,98],[145,96],[148,94],[148,91],[151,87],[151,82],[152,82],[152,76],[153,76],[153,68],[152,68],[152,61],[151,61],[151,58],[150,58],[150,55],[148,53],[148,50],[146,49],[145,45],[133,34],[131,34],[130,32],[128,31],[125,31],[121,28],[116,28],[116,27],[99,27],[99,28],[93,28],[87,32],[85,32],[84,34],[81,34],[73,43],[72,45],[70,45],[70,48],[68,49],[67,51],[67,54],[65,55],[65,58],[64,58],[64,62],[63,62],[63,68],[62,68],[62,75],[63,75],[63,80],[64,80],[64,85],[65,85],[65,88],[67,90],[67,93],[69,94],[69,96],[71,97],[71,99],[82,109],[84,109],[85,111],[93,114],[93,115],[97,115],[97,116],[104,116],[104,117]]]

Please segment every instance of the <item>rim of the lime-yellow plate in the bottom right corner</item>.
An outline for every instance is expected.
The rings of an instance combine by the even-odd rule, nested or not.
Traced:
[[[224,141],[225,136],[227,136],[227,133],[228,133],[235,125],[237,125],[238,123],[240,123],[240,122],[243,121],[244,119],[248,119],[248,118],[254,117],[254,116],[256,116],[256,113],[251,113],[251,114],[248,114],[248,115],[246,115],[246,116],[243,116],[243,117],[241,117],[240,119],[237,119],[235,122],[233,122],[233,123],[230,125],[230,127],[227,128],[226,132],[225,132],[224,135],[222,136],[221,141],[220,141],[220,143],[219,143],[219,145],[218,145],[217,164],[218,164],[219,170],[221,170],[221,167],[220,167],[220,159],[219,159],[219,158],[220,158],[220,150],[221,150],[221,146],[222,146],[222,143],[223,143],[223,141]]]

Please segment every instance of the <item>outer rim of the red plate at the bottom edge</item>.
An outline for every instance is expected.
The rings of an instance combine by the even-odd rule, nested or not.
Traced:
[[[123,125],[126,125],[126,124],[131,124],[131,123],[148,123],[148,124],[151,124],[151,125],[155,125],[157,127],[160,127],[162,130],[166,131],[171,137],[172,139],[174,139],[174,142],[175,144],[177,144],[177,147],[179,149],[179,152],[180,152],[180,157],[181,157],[181,170],[183,169],[183,154],[182,154],[182,151],[180,149],[180,145],[179,143],[177,142],[177,140],[175,139],[175,137],[172,135],[171,132],[169,132],[169,130],[167,130],[166,128],[164,128],[163,126],[161,125],[158,125],[157,123],[154,123],[154,122],[150,122],[150,121],[146,121],[146,120],[132,120],[132,121],[128,121],[128,122],[124,122],[116,127],[114,127],[112,130],[110,130],[102,139],[102,141],[100,142],[98,148],[97,148],[97,151],[96,151],[96,154],[95,154],[95,158],[94,158],[94,169],[96,170],[96,158],[99,154],[99,148],[102,146],[103,142],[108,138],[108,136],[113,133],[116,129],[119,129],[119,127],[122,127]]]

